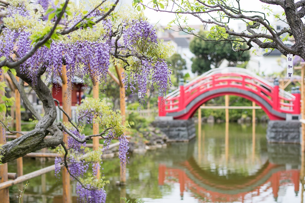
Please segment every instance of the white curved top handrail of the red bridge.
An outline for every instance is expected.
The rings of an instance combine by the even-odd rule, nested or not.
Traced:
[[[207,78],[209,77],[210,75],[214,75],[214,74],[217,74],[217,73],[238,73],[238,74],[242,74],[242,75],[247,75],[247,76],[251,76],[253,77],[253,79],[256,79],[257,82],[260,82],[264,85],[267,85],[267,86],[270,86],[272,88],[274,88],[274,84],[267,81],[266,79],[254,74],[253,72],[245,69],[245,68],[236,68],[236,67],[225,67],[225,68],[214,68],[214,69],[211,69],[205,73],[203,73],[202,75],[200,75],[199,77],[193,79],[192,81],[186,83],[184,85],[184,87],[188,87],[188,86],[191,86],[192,84],[195,84],[193,86],[193,88],[196,88],[196,86],[200,85],[200,84],[196,84],[196,82],[202,78]],[[180,94],[180,89],[176,89],[175,91],[167,94],[167,96],[165,98],[167,99],[171,99],[175,96],[178,96]],[[279,94],[280,96],[284,97],[284,98],[287,98],[288,100],[294,100],[296,97],[293,96],[292,94],[286,92],[285,90],[283,89],[279,89]]]

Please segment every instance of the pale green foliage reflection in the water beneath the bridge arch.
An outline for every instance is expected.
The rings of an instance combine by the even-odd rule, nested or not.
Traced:
[[[266,128],[256,127],[256,143],[253,156],[252,125],[229,124],[228,155],[225,152],[225,124],[203,125],[201,145],[195,147],[194,158],[199,166],[220,176],[239,173],[253,175],[268,160]],[[202,146],[198,149],[198,146]]]

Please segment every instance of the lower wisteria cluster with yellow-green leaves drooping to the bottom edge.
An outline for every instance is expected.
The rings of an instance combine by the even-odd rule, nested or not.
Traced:
[[[106,192],[103,186],[106,184],[105,177],[97,178],[96,175],[101,169],[103,154],[107,153],[109,145],[113,138],[119,138],[119,158],[121,165],[126,165],[128,153],[128,140],[124,136],[123,132],[126,131],[126,127],[121,124],[122,117],[120,112],[114,112],[105,101],[96,100],[93,98],[86,98],[83,103],[78,106],[77,114],[79,123],[77,131],[71,124],[66,124],[69,127],[69,131],[73,133],[80,140],[84,140],[86,136],[81,133],[85,125],[92,125],[92,123],[99,124],[100,128],[104,129],[101,134],[104,140],[104,146],[100,150],[88,152],[86,143],[78,142],[76,139],[69,137],[66,145],[68,154],[66,161],[68,163],[68,171],[72,175],[73,179],[77,180],[77,194],[80,201],[87,202],[105,202]],[[90,122],[86,122],[90,121]],[[59,156],[55,159],[55,174],[59,177],[60,164],[64,162],[65,151],[62,148],[57,147]],[[88,152],[88,156],[84,156]],[[102,154],[101,154],[101,153]],[[92,175],[88,175],[89,168],[92,169]],[[84,187],[85,186],[85,187]],[[86,195],[84,195],[84,193]],[[88,195],[89,194],[89,195]]]

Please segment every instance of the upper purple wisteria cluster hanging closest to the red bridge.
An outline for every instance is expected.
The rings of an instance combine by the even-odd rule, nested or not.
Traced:
[[[142,103],[145,102],[144,96],[149,82],[160,96],[164,96],[171,85],[171,72],[164,56],[156,51],[161,46],[157,40],[156,29],[144,18],[124,22],[123,27],[123,44],[128,51],[140,53],[132,59],[131,66],[134,67],[134,71],[125,75],[126,88],[130,87],[133,93],[138,91]]]

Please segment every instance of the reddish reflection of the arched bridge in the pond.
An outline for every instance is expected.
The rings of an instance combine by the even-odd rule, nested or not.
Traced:
[[[202,201],[241,201],[244,202],[245,196],[260,196],[270,188],[275,200],[278,198],[279,187],[288,184],[294,184],[296,195],[299,192],[300,171],[285,170],[281,165],[266,163],[267,167],[252,177],[245,177],[242,184],[233,182],[230,184],[227,180],[214,182],[213,177],[204,176],[192,168],[192,164],[186,161],[183,163],[185,170],[179,168],[170,168],[165,165],[159,165],[159,185],[164,182],[179,182],[180,196],[186,190]]]

